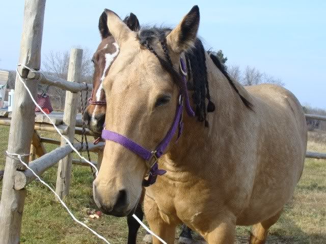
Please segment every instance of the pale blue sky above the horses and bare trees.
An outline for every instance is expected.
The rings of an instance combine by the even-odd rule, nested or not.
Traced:
[[[282,79],[303,105],[326,109],[326,1],[129,2],[48,0],[42,55],[75,46],[94,51],[104,8],[121,17],[133,12],[141,24],[175,26],[198,4],[199,35],[207,48],[222,49],[228,65],[249,65]],[[23,1],[2,1],[0,7],[0,69],[15,69]]]

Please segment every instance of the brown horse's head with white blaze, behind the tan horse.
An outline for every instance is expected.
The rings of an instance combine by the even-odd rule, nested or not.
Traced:
[[[123,22],[132,31],[137,31],[139,29],[139,21],[132,13],[130,13]],[[98,28],[102,40],[92,58],[94,64],[93,92],[89,100],[90,105],[86,108],[84,113],[84,121],[88,128],[96,134],[102,132],[105,120],[106,101],[102,82],[119,53],[119,45],[108,31],[107,15],[105,12],[100,16]]]

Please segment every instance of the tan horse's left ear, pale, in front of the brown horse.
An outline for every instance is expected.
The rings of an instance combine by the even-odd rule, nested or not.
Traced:
[[[121,45],[121,43],[128,39],[131,30],[115,12],[108,9],[105,9],[104,11],[107,15],[108,31],[112,34],[118,44]]]

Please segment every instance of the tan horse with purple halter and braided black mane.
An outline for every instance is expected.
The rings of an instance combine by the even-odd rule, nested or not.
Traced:
[[[300,102],[283,87],[243,87],[220,70],[197,38],[198,6],[174,29],[138,32],[105,12],[120,52],[103,81],[110,96],[93,182],[98,207],[132,214],[144,182],[160,175],[144,210],[168,243],[182,222],[218,244],[234,243],[236,225],[253,225],[250,243],[265,243],[304,167]]]

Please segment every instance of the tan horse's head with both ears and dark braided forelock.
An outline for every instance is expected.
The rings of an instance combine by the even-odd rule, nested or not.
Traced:
[[[180,56],[195,45],[199,9],[195,6],[172,30],[150,28],[137,33],[114,12],[106,10],[106,14],[120,52],[103,82],[105,94],[110,94],[105,129],[155,150],[175,121],[180,104]],[[164,153],[171,149],[170,144]],[[145,160],[130,148],[106,140],[93,184],[97,205],[106,214],[131,214],[148,170]]]

